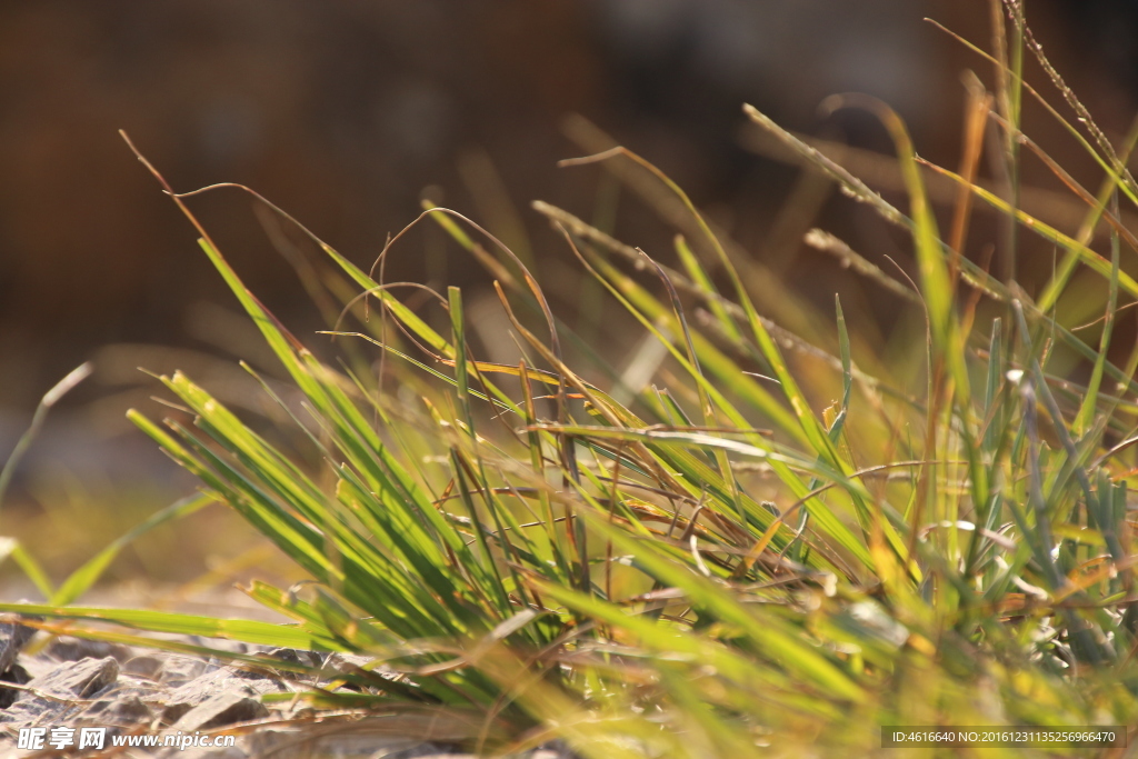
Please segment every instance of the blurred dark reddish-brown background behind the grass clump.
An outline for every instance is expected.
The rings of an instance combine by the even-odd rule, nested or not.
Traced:
[[[1054,64],[1118,139],[1138,98],[1138,3],[1028,6]],[[888,154],[872,118],[818,115],[831,93],[868,92],[901,114],[923,155],[955,166],[962,72],[990,85],[991,69],[925,16],[989,47],[987,0],[0,2],[0,461],[40,396],[79,363],[96,365],[20,467],[0,535],[33,545],[58,577],[189,490],[122,418],[130,405],[160,414],[148,401],[155,382],[135,366],[223,383],[237,356],[257,350],[192,229],[117,130],[175,188],[248,184],[361,264],[423,197],[527,248],[539,273],[560,277],[568,257],[529,211],[535,198],[668,258],[671,231],[603,170],[555,167],[587,152],[583,122],[567,122],[576,114],[666,170],[780,284],[819,303],[849,291],[857,314],[888,331],[892,306],[800,239],[818,223],[873,261],[906,265],[905,240],[765,155],[740,105]],[[1031,61],[1028,74],[1052,92]],[[1097,185],[1054,123],[1030,104],[1026,117],[1038,141]],[[1025,203],[1077,225],[1078,206],[1055,181],[1039,166],[1024,171]],[[880,174],[880,189],[896,195]],[[292,246],[303,255],[296,236],[266,228],[234,191],[191,204],[298,333],[321,327],[282,255]],[[978,217],[973,247],[991,231]],[[476,300],[487,284],[429,234],[397,249],[388,279],[463,284]],[[555,295],[571,311],[575,290],[561,279]],[[115,577],[184,581],[205,561],[224,579],[263,561],[224,514],[195,523],[156,533]]]

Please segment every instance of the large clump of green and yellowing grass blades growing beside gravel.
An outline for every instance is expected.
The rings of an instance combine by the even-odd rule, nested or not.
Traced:
[[[1007,8],[998,91],[973,104],[1007,138],[995,157],[1009,178],[1003,193],[975,183],[978,146],[962,172],[932,166],[900,118],[865,97],[826,107],[880,117],[897,147],[906,212],[745,109],[795,160],[910,234],[914,288],[832,236],[809,238],[918,304],[910,307],[926,330],[909,348],[922,356],[916,379],[855,356],[836,300],[828,336],[794,335],[764,316],[767,304],[752,302],[729,246],[625,148],[567,163],[601,162],[662,187],[654,197],[681,208],[694,232],[677,237],[676,269],[563,209],[535,209],[663,347],[658,382],[646,387],[627,387],[629,373],[559,322],[504,245],[434,207],[415,223],[439,224],[488,269],[529,358],[479,360],[459,289],[428,292],[447,315],[435,329],[398,297],[403,288],[316,240],[331,267],[308,284],[346,300],[329,330],[341,360],[322,362],[245,288],[155,172],[287,371],[289,395],[269,382],[264,390],[305,446],[270,442],[181,373],[160,379],[183,413],[165,426],[131,419],[201,480],[205,496],[229,504],[312,579],[248,588],[290,626],[0,608],[365,653],[373,666],[345,676],[353,690],[333,683],[307,701],[450,716],[486,752],[560,737],[588,757],[798,756],[808,744],[867,751],[881,745],[883,725],[1132,724],[1138,350],[1121,366],[1110,360],[1122,302],[1138,298],[1121,264],[1132,237],[1118,211],[1138,204],[1124,167],[1132,143],[1118,155],[1097,127],[1085,139],[1048,106],[1105,178],[1097,193],[1072,187],[1087,203],[1077,237],[1017,208],[1021,149],[1046,154],[1020,123],[1021,93],[1042,100],[1021,77],[1024,46],[1039,46],[1022,6]],[[960,188],[948,239],[926,196],[930,170]],[[1038,300],[962,255],[974,200],[1008,220],[1009,261],[1016,230],[1064,250]],[[1108,257],[1090,247],[1100,220],[1112,228]],[[1055,315],[1080,267],[1102,282],[1094,296],[1075,294],[1102,304],[1097,344]],[[380,357],[377,373],[370,362]],[[1081,383],[1070,369],[1053,373],[1075,360],[1086,363]],[[820,407],[823,393],[836,401]],[[380,665],[382,677],[371,671]]]

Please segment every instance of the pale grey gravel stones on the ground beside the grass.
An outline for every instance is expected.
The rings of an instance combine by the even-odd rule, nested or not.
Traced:
[[[58,637],[34,655],[22,652],[34,630],[0,624],[0,758],[124,757],[156,759],[473,759],[457,750],[469,727],[436,725],[398,716],[365,716],[343,721],[290,723],[314,717],[303,703],[270,694],[311,690],[312,676],[271,667],[238,668],[217,659],[135,649],[126,645]],[[187,638],[191,643],[258,653],[282,662],[320,667],[333,679],[369,662],[364,657],[324,655],[311,651],[247,646]],[[9,685],[6,685],[9,684]],[[351,687],[351,686],[349,686]],[[446,720],[438,720],[445,723]],[[402,734],[401,734],[402,726]],[[83,727],[107,727],[102,750],[80,750]],[[44,728],[39,750],[20,748],[20,728]],[[65,728],[61,733],[53,732]],[[51,745],[58,735],[68,737]],[[226,733],[225,748],[114,748],[114,736],[193,736]],[[415,736],[419,737],[415,737]],[[423,737],[431,740],[423,740]],[[527,759],[576,759],[571,752],[545,746]]]

